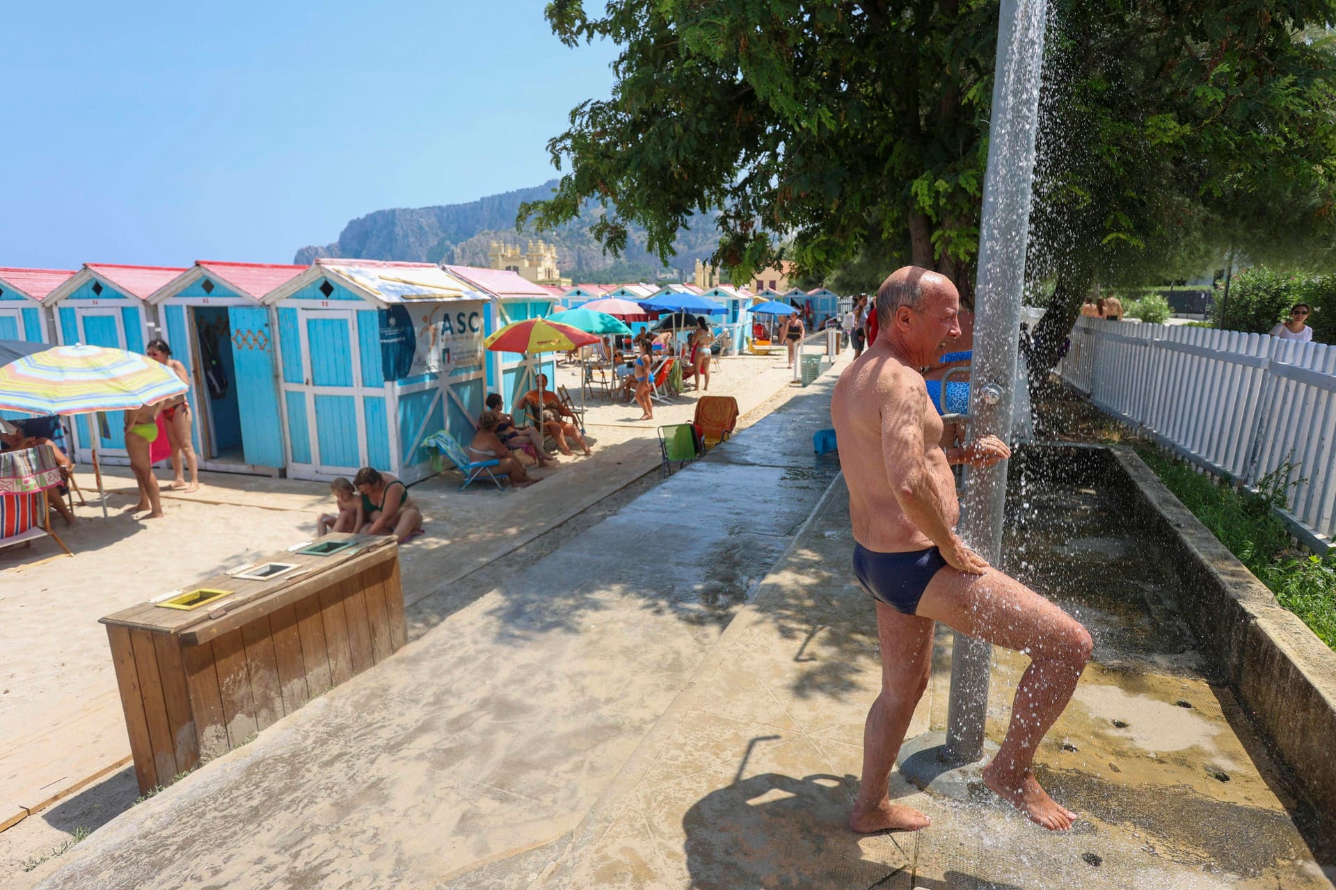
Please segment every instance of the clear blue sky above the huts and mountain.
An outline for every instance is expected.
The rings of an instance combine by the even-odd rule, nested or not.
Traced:
[[[537,185],[616,55],[542,0],[9,7],[0,266],[290,263],[374,209]]]

